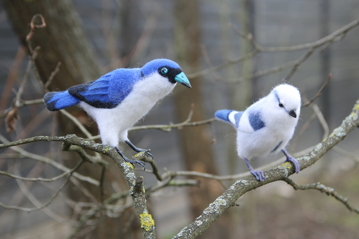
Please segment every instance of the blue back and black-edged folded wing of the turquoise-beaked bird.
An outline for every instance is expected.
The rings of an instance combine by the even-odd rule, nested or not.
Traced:
[[[132,91],[134,84],[142,79],[139,69],[117,69],[96,81],[73,86],[70,95],[95,108],[112,109]]]

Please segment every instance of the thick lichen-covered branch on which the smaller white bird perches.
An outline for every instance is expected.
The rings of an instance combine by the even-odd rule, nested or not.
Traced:
[[[329,137],[317,144],[311,152],[305,154],[303,157],[297,158],[301,165],[301,170],[317,162],[331,148],[344,140],[348,133],[357,126],[359,126],[359,100],[354,105],[352,112],[344,119],[341,126],[334,129]],[[202,215],[197,217],[193,223],[183,228],[173,238],[196,238],[207,230],[207,228],[216,221],[224,211],[234,206],[238,198],[243,194],[263,185],[279,180],[285,180],[293,173],[294,168],[287,162],[275,169],[264,172],[267,179],[263,182],[255,180],[253,176],[235,182],[221,196],[217,197],[217,199],[203,211]]]

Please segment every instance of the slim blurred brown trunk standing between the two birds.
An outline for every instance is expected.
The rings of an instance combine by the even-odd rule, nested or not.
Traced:
[[[200,23],[198,2],[178,0],[175,2],[176,26],[175,47],[177,61],[185,72],[200,69]],[[175,92],[176,111],[179,121],[184,121],[194,104],[192,121],[204,120],[205,112],[202,104],[201,79],[191,79],[192,89],[179,89]],[[181,91],[181,92],[179,92]],[[187,170],[217,174],[210,146],[211,137],[208,126],[184,128],[180,131],[182,152]],[[221,194],[222,186],[211,180],[201,181],[201,187],[189,188],[190,207],[193,218],[202,214],[203,210]],[[200,238],[229,238],[226,224],[228,215],[223,215]]]

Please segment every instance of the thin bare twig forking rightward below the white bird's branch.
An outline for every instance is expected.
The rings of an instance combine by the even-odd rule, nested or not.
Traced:
[[[334,197],[337,201],[343,203],[350,211],[356,212],[359,214],[359,208],[354,208],[351,204],[348,203],[349,198],[344,198],[343,196],[339,195],[333,188],[326,187],[321,183],[315,184],[307,184],[307,185],[298,185],[290,178],[285,178],[283,181],[287,182],[291,185],[295,190],[308,190],[308,189],[316,189],[321,192],[325,192],[328,196]]]

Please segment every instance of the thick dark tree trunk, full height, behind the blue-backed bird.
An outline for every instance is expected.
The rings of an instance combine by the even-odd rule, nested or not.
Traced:
[[[58,62],[62,63],[49,87],[50,90],[65,90],[73,85],[93,81],[102,75],[95,55],[87,42],[81,19],[75,11],[72,1],[1,0],[1,2],[19,37],[19,41],[24,46],[27,46],[28,51],[26,36],[30,32],[29,23],[35,14],[42,14],[44,16],[46,27],[35,29],[30,39],[30,44],[32,49],[37,46],[40,47],[35,60],[35,66],[42,82],[45,83],[47,81]],[[41,24],[39,21],[37,22],[37,20],[39,20],[39,18],[36,18],[35,24]],[[79,112],[78,109],[76,113],[85,114],[84,111]],[[57,114],[57,116],[61,116],[61,114]],[[91,127],[92,133],[96,134],[96,125],[92,124]],[[76,133],[82,136],[82,133],[77,132],[76,129],[77,128],[74,127],[67,118],[62,118],[58,127],[60,135]],[[65,163],[72,165],[75,161],[77,162],[78,155],[73,154],[73,157],[76,158],[76,160],[66,160]],[[112,163],[111,161],[110,165]],[[72,166],[69,167],[72,168]],[[99,180],[101,168],[97,165],[84,164],[78,172]],[[106,170],[105,178],[105,198],[113,192],[109,182],[116,181],[120,188],[123,188],[122,185],[124,184],[127,185],[126,182],[124,182],[124,177],[121,172],[118,171],[118,167],[110,166]],[[100,201],[101,196],[98,187],[86,183],[82,184]],[[88,200],[86,197],[84,198],[84,194],[81,190],[72,190],[72,188],[73,187],[69,187],[68,194],[73,200]],[[130,228],[127,232],[123,231],[131,215],[132,213],[127,211],[123,218],[106,217],[91,233],[97,238],[119,238],[120,236],[122,236],[122,238],[136,238],[134,235],[135,229]],[[139,228],[135,220],[133,225]]]

